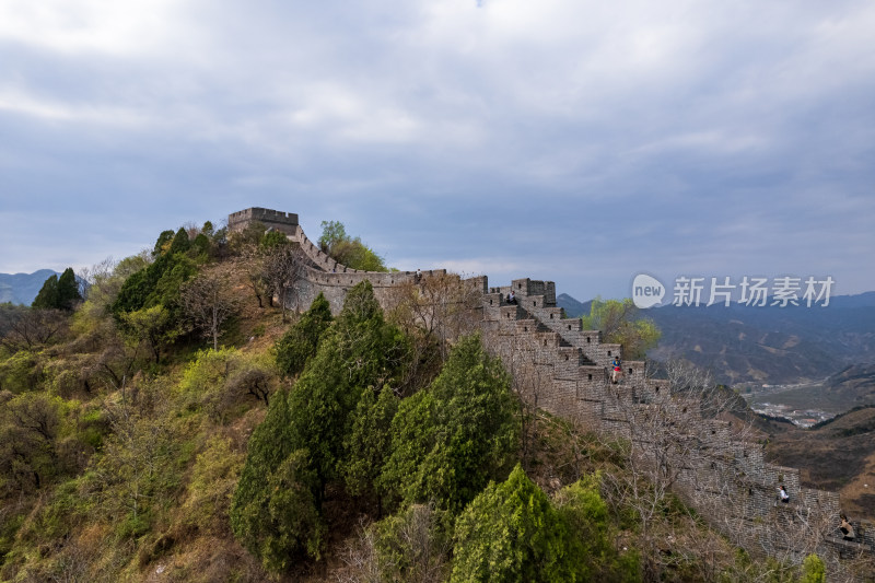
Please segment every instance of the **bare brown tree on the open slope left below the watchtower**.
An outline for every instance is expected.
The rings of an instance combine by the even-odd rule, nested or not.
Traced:
[[[222,325],[237,308],[228,278],[215,270],[205,270],[186,283],[182,298],[186,315],[203,336],[212,338],[213,350],[219,350]]]

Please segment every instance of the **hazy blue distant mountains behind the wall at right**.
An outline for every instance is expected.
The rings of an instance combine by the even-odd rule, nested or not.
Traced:
[[[560,294],[569,316],[590,302]],[[830,299],[827,307],[664,306],[644,311],[662,329],[649,353],[684,357],[728,385],[821,381],[875,363],[875,292]]]

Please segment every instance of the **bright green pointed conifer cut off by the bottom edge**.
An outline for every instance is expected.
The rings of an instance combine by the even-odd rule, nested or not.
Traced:
[[[518,465],[456,521],[451,582],[588,581],[580,543]]]

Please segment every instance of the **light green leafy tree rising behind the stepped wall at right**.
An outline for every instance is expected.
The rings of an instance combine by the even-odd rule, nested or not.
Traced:
[[[584,329],[602,330],[603,341],[622,345],[627,359],[641,359],[655,347],[662,333],[652,319],[641,317],[632,300],[593,300],[590,315],[581,316]]]

